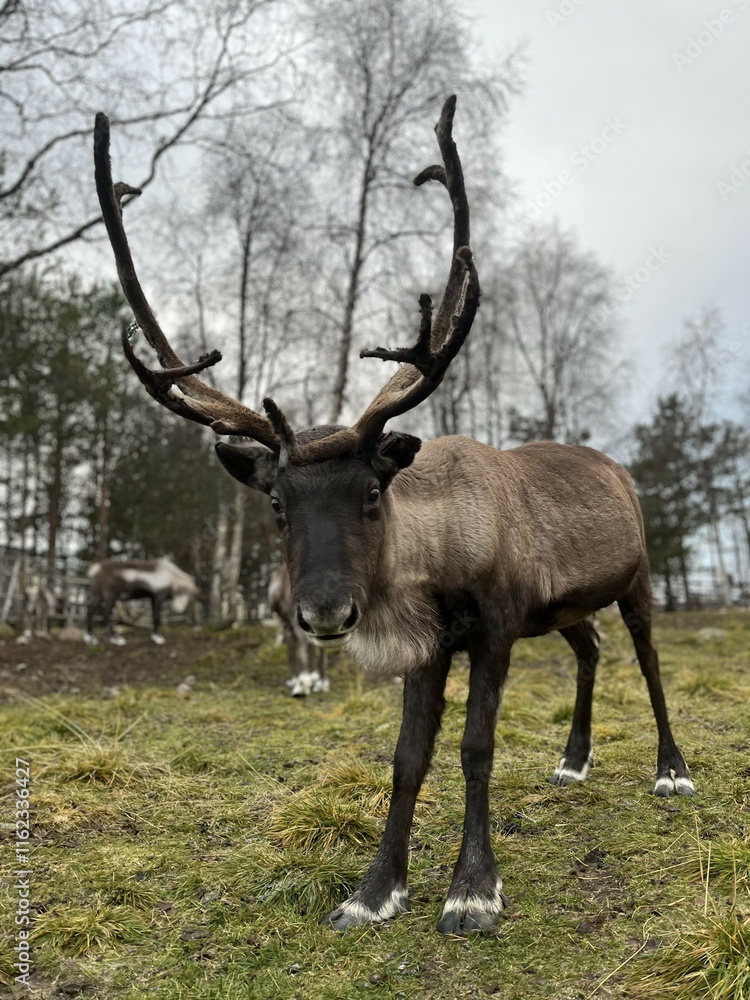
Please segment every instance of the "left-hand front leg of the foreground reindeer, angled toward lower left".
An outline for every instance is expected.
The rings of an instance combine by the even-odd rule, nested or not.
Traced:
[[[375,860],[345,903],[324,918],[334,930],[387,920],[408,909],[406,871],[414,806],[430,766],[445,707],[451,656],[441,652],[404,679],[404,713],[393,759],[393,795]]]

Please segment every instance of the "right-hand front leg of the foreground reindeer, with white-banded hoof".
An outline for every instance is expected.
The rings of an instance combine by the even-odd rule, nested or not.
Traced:
[[[510,644],[477,637],[469,646],[469,655],[469,697],[461,743],[461,765],[466,780],[464,834],[437,925],[441,934],[488,930],[507,905],[490,841],[489,784],[497,713],[510,664]]]

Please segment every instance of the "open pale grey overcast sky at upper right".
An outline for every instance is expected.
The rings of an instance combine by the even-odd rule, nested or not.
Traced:
[[[473,7],[491,51],[526,43],[503,142],[521,212],[557,216],[632,276],[632,418],[660,388],[661,345],[704,303],[723,310],[732,367],[750,375],[750,0]]]

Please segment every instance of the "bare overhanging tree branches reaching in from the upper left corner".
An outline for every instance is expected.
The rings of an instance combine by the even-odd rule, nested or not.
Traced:
[[[259,24],[273,2],[8,0],[0,8],[0,276],[98,228],[96,111],[140,151],[145,172],[132,182],[144,188],[204,121],[247,106],[235,92],[280,58]]]

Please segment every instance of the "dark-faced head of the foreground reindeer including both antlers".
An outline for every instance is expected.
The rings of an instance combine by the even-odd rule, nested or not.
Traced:
[[[96,187],[120,283],[136,327],[156,351],[162,370],[153,371],[139,360],[126,327],[125,355],[163,406],[217,434],[256,442],[219,442],[216,450],[232,476],[269,495],[284,542],[297,619],[319,645],[340,645],[362,620],[387,521],[388,487],[420,447],[418,438],[384,432],[385,425],[437,388],[466,340],[479,304],[479,281],[469,249],[469,206],[452,137],[455,108],[455,97],[448,98],[435,127],[443,164],[428,167],[415,179],[417,185],[440,181],[453,204],[453,260],[434,320],[432,300],[422,295],[414,347],[379,347],[361,353],[360,357],[403,365],[353,426],[298,433],[273,400],[263,401],[263,416],[197,377],[221,360],[218,351],[184,365],[172,350],[138,281],[122,223],[122,195],[139,192],[112,184],[109,122],[102,114],[96,117]]]

